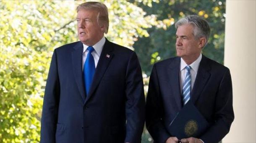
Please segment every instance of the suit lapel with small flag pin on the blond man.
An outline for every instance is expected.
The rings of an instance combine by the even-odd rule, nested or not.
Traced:
[[[112,50],[113,50],[113,47],[111,46],[110,41],[106,39],[106,42],[102,49],[102,53],[100,54],[100,57],[99,57],[99,62],[95,70],[94,78],[91,83],[91,88],[86,97],[85,103],[89,100],[89,98],[92,96],[94,91],[97,89],[99,82],[101,81],[112,57],[114,56],[114,54],[112,53]]]

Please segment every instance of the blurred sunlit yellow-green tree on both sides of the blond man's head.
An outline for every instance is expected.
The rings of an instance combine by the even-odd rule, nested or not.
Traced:
[[[39,142],[44,86],[52,51],[77,41],[76,6],[84,1],[0,1],[0,142]],[[133,49],[155,22],[127,1],[109,8],[107,38]]]

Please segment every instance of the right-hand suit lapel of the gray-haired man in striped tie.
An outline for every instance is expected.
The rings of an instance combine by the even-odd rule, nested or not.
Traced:
[[[202,90],[204,89],[204,86],[206,82],[208,81],[210,77],[210,66],[207,64],[207,59],[204,55],[202,55],[202,59],[197,71],[196,80],[194,83],[194,87],[192,89],[192,102],[195,103],[196,100],[199,98],[199,95],[201,94]]]

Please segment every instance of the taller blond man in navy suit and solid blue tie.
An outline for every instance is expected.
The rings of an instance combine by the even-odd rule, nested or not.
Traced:
[[[42,143],[139,143],[145,98],[135,52],[108,41],[103,3],[77,7],[78,42],[54,50],[42,110]]]

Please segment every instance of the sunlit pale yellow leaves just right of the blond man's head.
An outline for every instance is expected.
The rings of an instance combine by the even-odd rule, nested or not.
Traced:
[[[134,40],[138,37],[148,37],[145,28],[156,25],[156,17],[148,15],[136,5],[125,0],[110,0],[104,2],[109,10],[110,28],[107,38],[133,49]]]

